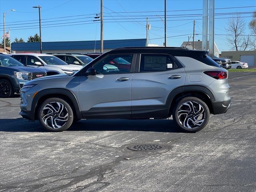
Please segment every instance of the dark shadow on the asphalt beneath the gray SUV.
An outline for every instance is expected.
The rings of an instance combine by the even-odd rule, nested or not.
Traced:
[[[38,121],[29,122],[23,118],[0,119],[2,132],[47,132]],[[145,132],[182,132],[168,119],[128,120],[128,119],[91,119],[74,123],[67,131],[145,131]]]

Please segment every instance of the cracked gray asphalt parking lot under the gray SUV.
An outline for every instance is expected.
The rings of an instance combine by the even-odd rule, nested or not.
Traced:
[[[82,120],[52,133],[0,99],[0,191],[255,192],[256,73],[230,72],[232,108],[204,130],[172,120]],[[138,144],[162,145],[147,152]]]

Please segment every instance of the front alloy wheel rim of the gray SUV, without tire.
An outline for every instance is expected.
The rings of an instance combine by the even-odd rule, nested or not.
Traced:
[[[60,102],[50,102],[41,113],[42,122],[51,129],[61,128],[68,121],[68,109]]]

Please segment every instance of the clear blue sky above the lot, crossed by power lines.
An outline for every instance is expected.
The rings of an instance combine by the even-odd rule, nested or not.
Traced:
[[[78,41],[99,40],[100,23],[92,20],[96,13],[100,13],[100,0],[1,0],[0,1],[0,34],[3,34],[3,13],[15,9],[15,12],[6,14],[6,28],[11,29],[12,40],[39,34],[38,9],[32,6],[41,6],[42,40],[47,41]],[[215,8],[256,6],[255,0],[216,0]],[[104,0],[104,39],[131,39],[146,38],[146,17],[148,16],[151,30],[149,31],[149,43],[162,45],[164,42],[164,24],[159,18],[164,19],[164,0]],[[199,9],[199,10],[194,10]],[[188,40],[188,34],[193,32],[193,19],[196,20],[196,34],[202,34],[201,16],[188,14],[202,14],[202,0],[167,0],[167,39],[168,46],[180,46]],[[180,11],[177,11],[180,10]],[[193,10],[193,11],[184,11]],[[215,13],[252,12],[256,7],[216,9]],[[116,13],[122,12],[122,13]],[[135,12],[135,13],[130,13]],[[77,16],[80,15],[80,16]],[[159,15],[159,16],[157,16]],[[66,17],[74,16],[74,17]],[[186,17],[184,17],[186,16]],[[232,16],[232,15],[230,15]],[[215,34],[226,34],[225,27],[229,15],[215,16]],[[233,15],[234,16],[234,15]],[[251,14],[242,14],[251,16]],[[66,17],[66,18],[60,18]],[[134,18],[134,19],[127,19]],[[249,33],[248,23],[252,18],[244,18],[246,22],[246,34]],[[32,20],[32,21],[31,21]],[[35,21],[33,21],[35,20]],[[61,20],[61,21],[60,21]],[[23,22],[17,22],[23,21]],[[55,22],[51,22],[55,21]],[[86,22],[82,22],[86,21]],[[118,21],[118,22],[116,22]],[[126,22],[124,22],[126,21]],[[127,22],[129,21],[129,22]],[[15,23],[13,23],[15,22]],[[62,24],[60,24],[62,23]],[[86,24],[85,24],[86,23]],[[14,25],[22,24],[22,25]],[[48,25],[47,25],[48,24]],[[53,25],[49,25],[53,24]],[[53,27],[59,25],[72,25]],[[79,24],[79,25],[76,25]],[[21,26],[28,26],[21,30]],[[15,27],[15,28],[14,28]],[[24,28],[24,27],[23,27]],[[184,35],[184,36],[181,36]],[[178,37],[173,37],[178,36]],[[192,39],[192,38],[191,38]],[[202,40],[202,35],[196,35],[195,40]],[[215,36],[215,42],[220,51],[231,50],[226,41],[226,36]]]

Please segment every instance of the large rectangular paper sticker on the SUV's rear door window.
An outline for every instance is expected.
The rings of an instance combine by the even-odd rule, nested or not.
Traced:
[[[144,70],[166,70],[166,57],[145,56]]]

